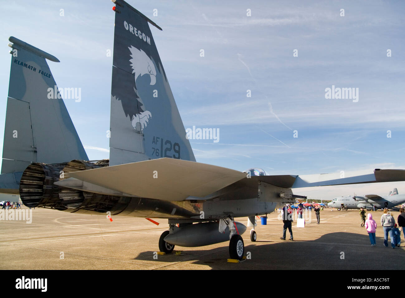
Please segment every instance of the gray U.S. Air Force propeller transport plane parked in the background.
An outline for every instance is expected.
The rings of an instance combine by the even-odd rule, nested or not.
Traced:
[[[392,209],[396,205],[405,203],[405,194],[398,194],[398,190],[394,188],[386,197],[376,194],[366,194],[365,196],[342,196],[334,198],[328,203],[329,207],[337,208],[338,211],[347,205],[347,209],[363,209],[374,210],[380,208]]]

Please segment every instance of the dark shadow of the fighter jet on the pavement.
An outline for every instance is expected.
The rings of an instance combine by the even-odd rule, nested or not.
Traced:
[[[159,262],[185,262],[185,269],[192,264],[207,265],[212,269],[290,269],[290,270],[377,270],[402,269],[405,259],[404,247],[384,247],[384,238],[376,237],[377,246],[371,247],[367,234],[336,232],[316,240],[269,241],[256,245],[245,240],[245,255],[250,256],[240,263],[228,263],[228,246],[215,249],[190,250],[181,254],[158,255]],[[257,241],[256,243],[258,243]],[[262,242],[263,243],[263,242]],[[225,243],[224,243],[225,244]],[[177,247],[175,247],[176,249]],[[140,253],[134,260],[153,260],[153,251]],[[400,262],[400,260],[402,260]],[[388,261],[388,263],[387,263]],[[384,264],[384,265],[383,265]],[[168,267],[170,268],[170,266]],[[177,267],[176,267],[177,268]]]

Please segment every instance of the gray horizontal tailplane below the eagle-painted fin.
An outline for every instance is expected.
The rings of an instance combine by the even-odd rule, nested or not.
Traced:
[[[87,184],[87,191],[111,189],[142,198],[181,201],[189,196],[204,197],[246,177],[236,170],[174,158],[159,158],[65,174]],[[55,184],[78,188],[71,179]],[[90,185],[90,186],[89,186]],[[92,190],[89,190],[92,189]]]

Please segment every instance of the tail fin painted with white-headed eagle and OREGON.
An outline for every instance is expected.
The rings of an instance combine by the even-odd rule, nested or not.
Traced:
[[[162,157],[195,161],[147,18],[120,3],[115,13],[110,166]]]

